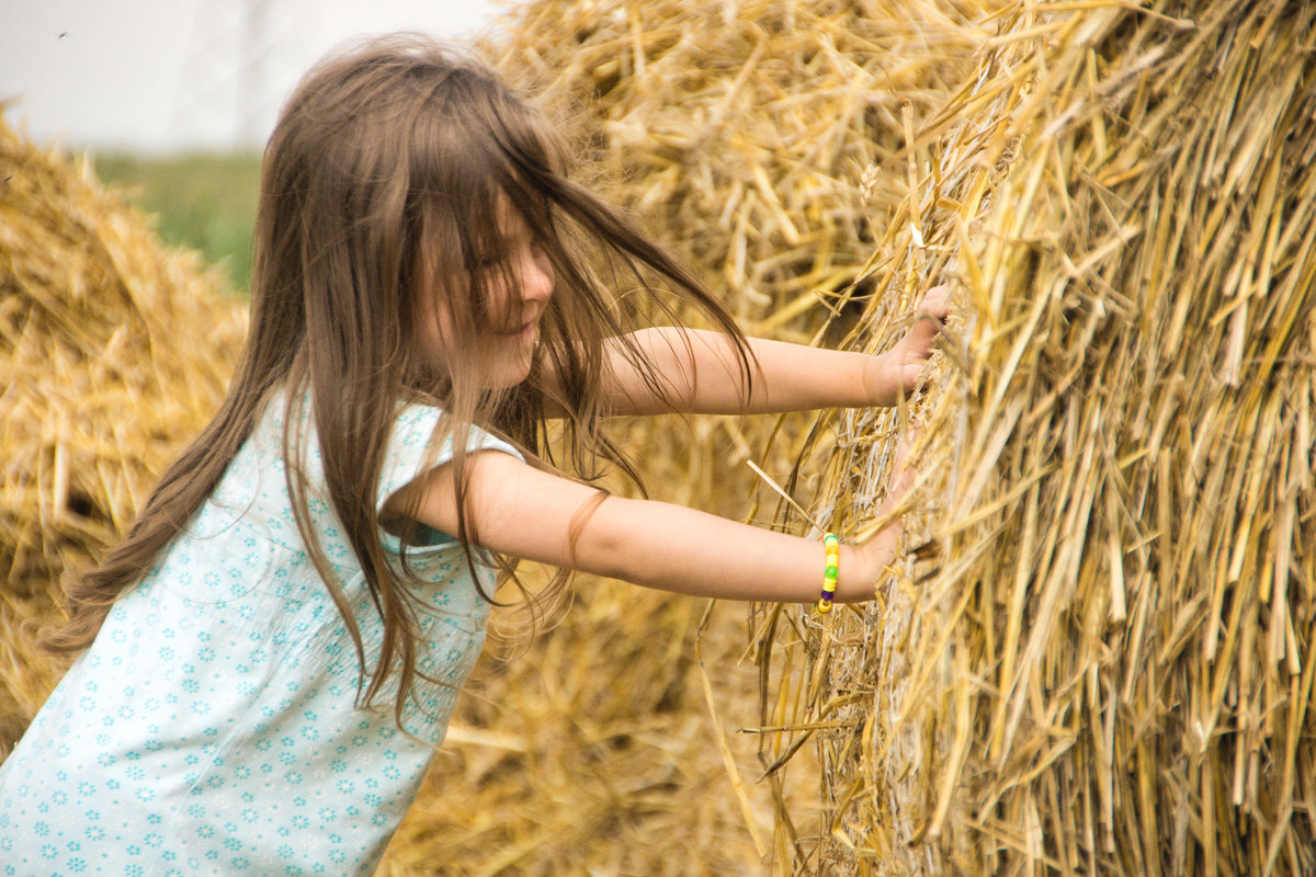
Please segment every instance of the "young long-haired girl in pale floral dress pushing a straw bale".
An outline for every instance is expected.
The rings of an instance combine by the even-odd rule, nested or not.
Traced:
[[[890,405],[946,313],[937,289],[880,356],[744,338],[540,114],[416,38],[315,68],[261,187],[232,389],[70,590],[53,644],[86,651],[0,769],[4,874],[371,873],[494,565],[817,598],[817,540],[591,486],[625,464],[604,417]],[[722,331],[636,330],[674,317],[657,283]],[[837,601],[873,596],[896,536],[841,548]]]

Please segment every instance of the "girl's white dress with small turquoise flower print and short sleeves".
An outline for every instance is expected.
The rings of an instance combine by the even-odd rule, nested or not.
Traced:
[[[372,873],[479,656],[488,604],[461,546],[429,531],[407,560],[430,582],[412,590],[425,607],[417,669],[436,681],[417,676],[405,734],[387,689],[358,709],[357,650],[292,518],[283,415],[282,400],[266,405],[215,494],[0,765],[0,874]],[[378,502],[420,473],[441,417],[400,412]],[[309,511],[372,668],[383,626],[316,489],[307,434]],[[517,455],[476,429],[467,447]],[[443,447],[429,464],[449,458]],[[397,539],[380,540],[396,564]],[[492,572],[478,569],[491,593]]]

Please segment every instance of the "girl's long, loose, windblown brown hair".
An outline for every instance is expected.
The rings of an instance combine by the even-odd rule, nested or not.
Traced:
[[[375,39],[315,67],[265,151],[251,329],[228,397],[164,473],[128,536],[70,581],[70,622],[47,644],[72,651],[91,643],[114,600],[216,488],[262,406],[286,392],[290,406],[312,400],[325,485],[383,619],[368,684],[357,621],[309,523],[301,418],[286,417],[283,454],[299,530],[357,644],[359,701],[368,705],[396,671],[400,715],[416,673],[417,609],[411,582],[386,561],[376,509],[400,401],[445,409],[443,435],[432,446],[453,439],[461,497],[472,425],[511,439],[536,464],[555,464],[546,433],[550,402],[566,412],[557,443],[570,456],[569,469],[588,480],[601,463],[613,463],[638,483],[600,429],[604,343],[620,344],[666,397],[662,376],[626,333],[651,314],[676,322],[679,302],[736,339],[747,389],[747,347],[733,318],[687,270],[572,181],[570,158],[528,100],[480,63],[422,37]],[[529,377],[491,391],[459,364],[478,331],[497,320],[488,304],[490,272],[479,268],[497,247],[508,208],[536,230],[555,285]],[[613,296],[609,287],[626,295]],[[671,301],[666,293],[675,293]],[[451,322],[445,359],[454,366],[442,372],[416,339],[434,296]],[[549,369],[558,377],[553,385],[563,388],[551,400]],[[459,521],[455,535],[478,544],[465,501]]]

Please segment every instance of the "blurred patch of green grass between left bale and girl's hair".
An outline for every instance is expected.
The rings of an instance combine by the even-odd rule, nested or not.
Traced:
[[[228,271],[236,289],[247,288],[259,155],[114,153],[96,156],[96,174],[126,188],[133,204],[155,214],[166,243],[200,250],[208,263]]]

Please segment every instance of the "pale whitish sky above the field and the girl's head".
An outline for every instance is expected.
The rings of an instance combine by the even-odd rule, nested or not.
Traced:
[[[513,3],[0,0],[0,101],[11,125],[68,149],[258,149],[297,78],[345,39],[461,42]]]

